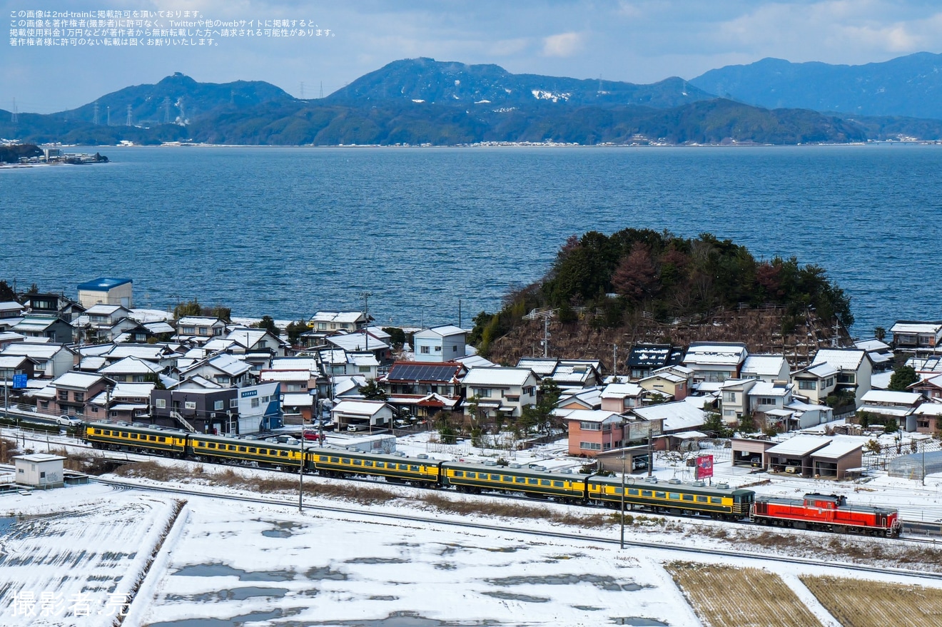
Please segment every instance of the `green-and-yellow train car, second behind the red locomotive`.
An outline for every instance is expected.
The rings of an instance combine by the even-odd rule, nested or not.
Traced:
[[[442,464],[442,485],[453,486],[459,491],[523,492],[529,496],[553,497],[567,502],[585,500],[586,478],[584,474],[547,473],[531,468],[458,461]]]

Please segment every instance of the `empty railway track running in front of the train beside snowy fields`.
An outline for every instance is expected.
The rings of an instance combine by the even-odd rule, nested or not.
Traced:
[[[95,479],[96,482],[102,483],[104,485],[111,486],[118,489],[132,488],[137,490],[147,490],[155,492],[163,492],[176,495],[186,495],[186,496],[196,496],[202,498],[213,498],[213,499],[222,499],[227,501],[235,501],[240,503],[250,503],[256,505],[267,505],[267,506],[282,506],[295,508],[298,506],[297,501],[287,500],[287,499],[273,499],[265,497],[250,497],[250,496],[239,496],[234,494],[216,494],[216,493],[207,493],[200,490],[188,490],[186,488],[175,488],[169,486],[144,486],[138,485],[135,483],[129,483],[125,481],[120,481],[116,479]],[[305,505],[304,509],[310,511],[325,512],[328,514],[335,515],[337,513],[355,516],[361,519],[372,520],[382,520],[382,521],[398,521],[405,523],[420,523],[428,524],[435,527],[443,528],[462,528],[462,529],[477,529],[480,531],[496,531],[499,533],[513,534],[516,536],[528,537],[528,538],[544,538],[544,539],[563,539],[563,540],[575,540],[580,542],[590,541],[596,544],[608,545],[608,546],[619,546],[621,541],[619,539],[606,538],[604,536],[597,536],[593,534],[576,534],[576,533],[565,533],[559,531],[545,531],[545,530],[536,530],[536,529],[526,529],[521,527],[509,527],[502,526],[498,524],[488,524],[488,523],[471,523],[467,521],[450,521],[444,520],[442,518],[435,517],[426,517],[419,516],[415,514],[398,514],[398,513],[389,513],[389,512],[378,512],[365,510],[363,508],[354,509],[344,506],[320,506],[320,505]],[[889,540],[887,540],[889,541]],[[922,541],[922,540],[916,540]],[[739,559],[746,559],[757,562],[779,562],[784,564],[797,564],[803,566],[815,566],[820,568],[827,569],[839,569],[840,571],[855,571],[862,573],[871,573],[871,574],[891,574],[896,576],[905,576],[905,577],[921,577],[926,579],[933,579],[942,581],[942,572],[924,572],[924,571],[913,571],[908,569],[895,569],[895,568],[882,568],[877,566],[867,566],[846,562],[833,562],[825,561],[820,559],[811,559],[806,557],[793,557],[786,555],[773,555],[773,554],[750,554],[750,553],[739,553],[736,551],[730,551],[726,549],[709,549],[709,548],[699,548],[691,547],[682,544],[674,544],[671,542],[658,542],[656,544],[651,543],[650,541],[639,541],[639,540],[625,540],[625,546],[648,549],[652,551],[663,551],[663,552],[674,552],[686,555],[708,555],[714,557],[735,557]]]

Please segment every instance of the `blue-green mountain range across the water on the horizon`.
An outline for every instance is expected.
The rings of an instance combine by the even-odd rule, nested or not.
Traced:
[[[763,59],[650,85],[402,59],[326,98],[174,73],[49,115],[0,113],[33,143],[799,144],[942,138],[942,55],[862,66]],[[127,121],[130,118],[131,124]]]

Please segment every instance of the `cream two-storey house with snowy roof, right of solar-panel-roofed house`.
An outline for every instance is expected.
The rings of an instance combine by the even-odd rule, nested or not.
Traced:
[[[465,406],[473,399],[485,416],[519,417],[536,403],[536,382],[529,368],[471,368],[462,381]]]

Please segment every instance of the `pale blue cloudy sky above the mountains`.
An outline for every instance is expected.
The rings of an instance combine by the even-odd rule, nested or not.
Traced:
[[[173,72],[210,83],[265,80],[317,98],[417,56],[653,83],[767,56],[858,65],[942,52],[942,4],[925,0],[0,0],[0,7],[8,22],[0,41],[0,108],[12,110],[15,100],[20,112],[37,113],[71,109]],[[77,37],[67,46],[46,46],[47,38],[42,46],[20,45],[31,35],[19,32],[28,25],[24,13],[36,9],[180,11],[181,20],[190,11],[199,13],[195,20],[221,24],[209,38],[156,38],[174,41],[161,46],[148,45],[146,34],[138,46],[101,43],[113,34],[88,38],[96,45],[78,45]],[[262,21],[264,29],[275,20],[293,21],[288,30],[305,35],[221,34],[234,21]],[[173,25],[167,15],[156,21]],[[181,39],[204,43],[184,46]]]

